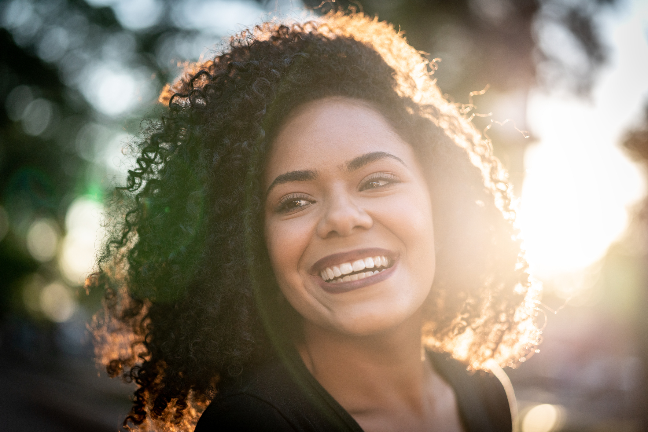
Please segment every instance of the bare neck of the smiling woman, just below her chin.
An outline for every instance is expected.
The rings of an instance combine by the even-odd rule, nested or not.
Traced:
[[[375,335],[343,335],[308,322],[304,334],[298,349],[305,365],[351,415],[403,406],[422,414],[434,372],[421,361],[419,313]]]

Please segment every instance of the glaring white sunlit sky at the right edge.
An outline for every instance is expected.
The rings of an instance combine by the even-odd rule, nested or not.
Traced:
[[[623,153],[623,134],[648,104],[648,1],[601,17],[610,62],[590,101],[532,92],[520,227],[535,275],[578,272],[605,255],[645,193],[644,174]]]

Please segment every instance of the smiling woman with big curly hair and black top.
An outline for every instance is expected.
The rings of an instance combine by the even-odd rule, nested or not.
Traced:
[[[498,365],[535,350],[538,292],[506,174],[428,67],[330,14],[165,89],[89,282],[125,425],[511,430]]]

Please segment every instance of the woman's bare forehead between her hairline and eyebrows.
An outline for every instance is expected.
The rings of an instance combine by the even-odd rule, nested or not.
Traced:
[[[272,142],[266,181],[292,170],[341,165],[369,152],[411,151],[385,117],[363,102],[326,98],[299,108]]]

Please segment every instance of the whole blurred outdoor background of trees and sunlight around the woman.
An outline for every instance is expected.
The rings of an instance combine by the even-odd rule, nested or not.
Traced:
[[[235,30],[378,14],[440,58],[518,198],[545,341],[507,370],[523,432],[648,431],[648,1],[0,1],[0,424],[116,431],[82,280],[102,198],[183,63]],[[480,92],[488,86],[483,94]],[[481,92],[480,92],[481,93]]]

